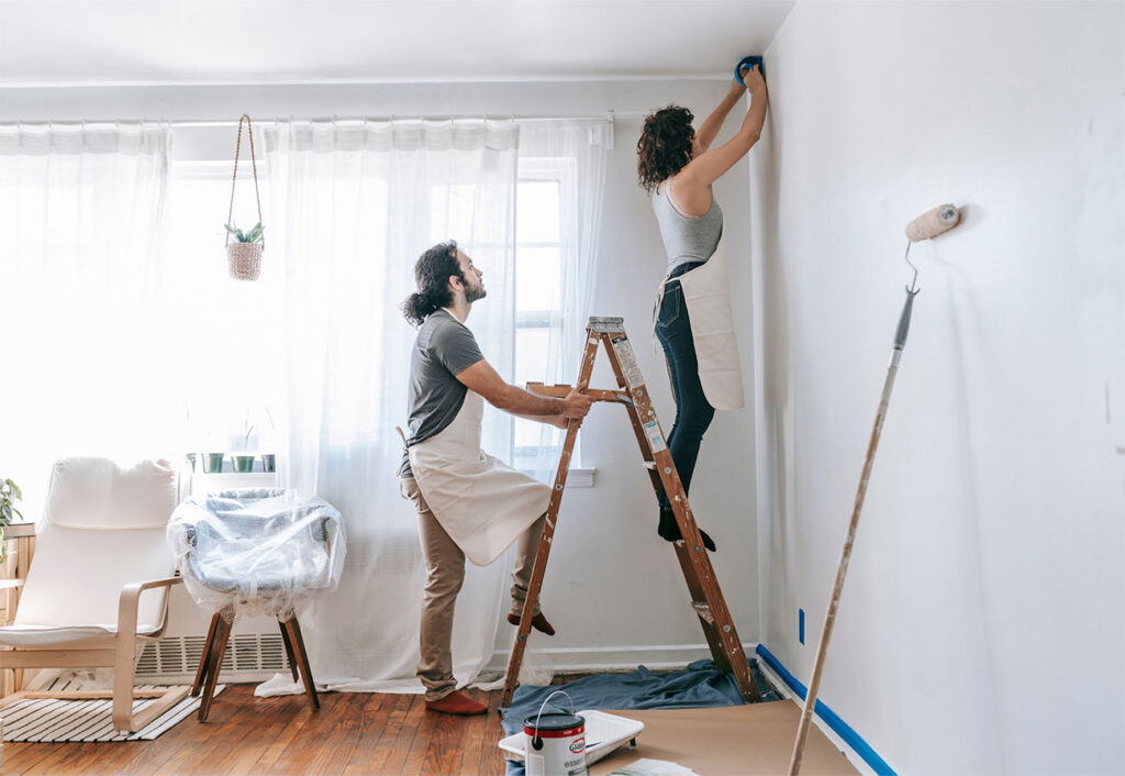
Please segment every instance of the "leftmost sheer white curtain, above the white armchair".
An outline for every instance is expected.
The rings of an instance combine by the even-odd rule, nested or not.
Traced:
[[[158,297],[170,131],[0,126],[0,478],[38,516],[51,463],[174,455]]]

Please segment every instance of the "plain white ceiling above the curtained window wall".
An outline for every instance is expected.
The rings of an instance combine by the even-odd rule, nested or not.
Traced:
[[[710,77],[793,0],[0,0],[0,87]]]

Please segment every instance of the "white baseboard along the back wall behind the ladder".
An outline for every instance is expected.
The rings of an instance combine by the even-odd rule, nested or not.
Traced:
[[[754,655],[757,642],[742,644],[747,657]],[[496,650],[485,667],[486,671],[505,671],[508,650]],[[711,658],[706,644],[654,644],[645,646],[588,646],[559,649],[529,649],[524,662],[550,668],[556,672],[632,671],[638,666],[651,669],[683,668],[695,660]]]

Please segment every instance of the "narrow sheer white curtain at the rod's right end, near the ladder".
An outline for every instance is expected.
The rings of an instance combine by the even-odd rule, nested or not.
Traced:
[[[574,383],[578,375],[594,300],[612,132],[612,123],[591,119],[526,122],[520,127],[521,168],[549,171],[559,181],[560,325],[550,328],[546,372],[538,377],[547,384]],[[536,458],[539,479],[554,479],[561,444],[561,430],[540,425]]]

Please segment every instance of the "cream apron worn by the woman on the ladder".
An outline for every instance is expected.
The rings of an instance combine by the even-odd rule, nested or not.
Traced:
[[[730,309],[730,282],[722,248],[702,266],[678,278],[687,318],[692,323],[695,359],[699,362],[703,395],[717,410],[737,410],[745,404],[742,366],[738,362],[735,321]],[[668,278],[660,284],[656,314]]]

